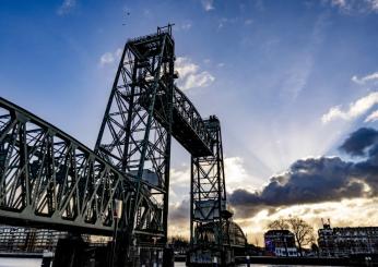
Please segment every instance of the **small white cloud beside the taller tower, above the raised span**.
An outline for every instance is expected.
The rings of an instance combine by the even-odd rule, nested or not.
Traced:
[[[211,85],[215,77],[206,71],[199,71],[199,65],[191,62],[190,59],[178,57],[175,62],[175,69],[179,74],[178,86],[182,90]]]

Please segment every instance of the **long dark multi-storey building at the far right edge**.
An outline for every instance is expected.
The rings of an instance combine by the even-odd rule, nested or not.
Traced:
[[[328,220],[318,230],[318,235],[321,256],[346,257],[378,253],[378,227],[331,228]]]

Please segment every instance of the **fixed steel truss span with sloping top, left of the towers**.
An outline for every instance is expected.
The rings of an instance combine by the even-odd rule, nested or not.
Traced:
[[[111,234],[132,185],[57,128],[0,98],[0,221]],[[126,218],[127,219],[127,218]]]

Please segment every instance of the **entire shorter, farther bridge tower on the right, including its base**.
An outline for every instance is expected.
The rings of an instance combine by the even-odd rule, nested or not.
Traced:
[[[204,120],[213,141],[213,154],[191,157],[190,243],[191,262],[204,257],[225,264],[225,244],[229,243],[226,187],[223,163],[221,123],[215,116]]]

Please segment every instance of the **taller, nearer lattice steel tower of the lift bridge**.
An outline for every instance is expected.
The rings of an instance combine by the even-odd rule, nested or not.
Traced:
[[[174,62],[172,25],[128,40],[95,146],[134,182],[135,194],[123,208],[127,246],[135,247],[129,257],[143,247],[163,248],[167,240]]]

